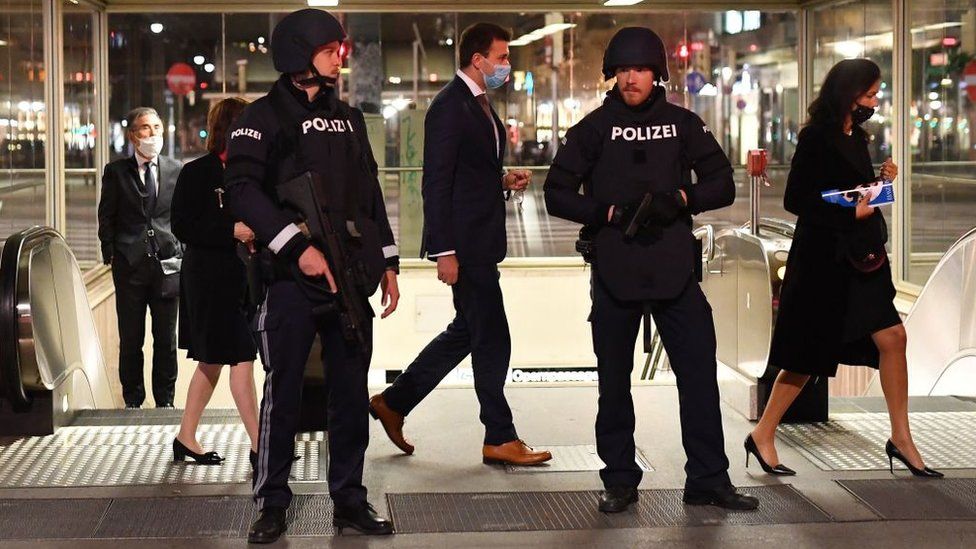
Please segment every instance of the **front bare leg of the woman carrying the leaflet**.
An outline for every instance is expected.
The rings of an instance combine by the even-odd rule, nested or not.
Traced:
[[[918,467],[925,466],[921,454],[912,440],[908,427],[908,360],[905,357],[907,336],[901,324],[871,334],[881,353],[881,390],[888,404],[891,420],[891,442],[901,450],[908,461]]]

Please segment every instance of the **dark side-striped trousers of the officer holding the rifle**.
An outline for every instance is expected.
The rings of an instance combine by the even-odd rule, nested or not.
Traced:
[[[287,507],[291,502],[288,473],[295,455],[305,363],[316,332],[328,387],[328,409],[322,413],[328,413],[329,495],[339,506],[365,501],[369,357],[346,342],[335,317],[313,319],[309,301],[292,281],[271,285],[254,322],[265,371],[254,477],[258,508]]]

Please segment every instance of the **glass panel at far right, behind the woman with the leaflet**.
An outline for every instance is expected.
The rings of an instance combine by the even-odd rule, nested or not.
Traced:
[[[942,254],[974,225],[976,6],[972,0],[913,0],[910,6],[907,279],[924,284]]]

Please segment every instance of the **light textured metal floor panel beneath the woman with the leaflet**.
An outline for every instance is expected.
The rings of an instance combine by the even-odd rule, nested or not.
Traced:
[[[933,469],[976,469],[976,412],[913,412],[912,436]],[[888,469],[887,413],[831,414],[827,423],[780,425],[779,437],[825,471]],[[905,467],[895,462],[896,469]]]

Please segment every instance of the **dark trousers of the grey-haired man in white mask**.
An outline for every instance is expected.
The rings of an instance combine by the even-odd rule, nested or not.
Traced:
[[[112,260],[115,311],[119,321],[119,381],[127,406],[146,400],[142,345],[146,338],[146,307],[152,318],[152,391],[156,406],[172,406],[176,390],[177,296],[163,297],[159,261],[142,256],[135,265],[117,253]]]

